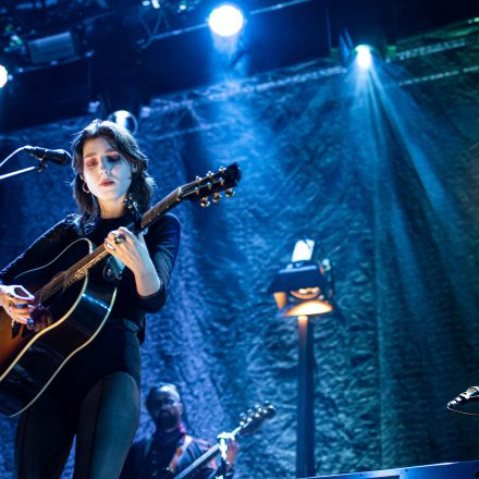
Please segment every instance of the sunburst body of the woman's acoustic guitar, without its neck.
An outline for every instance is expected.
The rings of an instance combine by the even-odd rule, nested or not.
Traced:
[[[35,294],[91,249],[91,242],[78,240],[48,265],[17,275],[13,284]],[[58,291],[41,302],[49,309],[52,323],[37,333],[23,324],[12,328],[10,316],[0,309],[1,414],[15,416],[32,405],[65,363],[88,345],[107,321],[116,288],[91,280],[97,268],[66,288],[58,281]],[[56,284],[54,280],[51,283]]]

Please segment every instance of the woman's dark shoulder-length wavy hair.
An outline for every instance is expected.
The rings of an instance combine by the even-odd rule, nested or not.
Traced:
[[[128,163],[136,167],[136,171],[132,172],[128,193],[134,196],[142,211],[148,207],[155,191],[155,180],[146,171],[148,159],[139,149],[135,137],[116,123],[94,120],[77,133],[72,142],[72,168],[75,172],[75,177],[72,181],[73,198],[82,213],[83,223],[99,216],[97,199],[91,193],[85,193],[83,189],[85,185],[83,180],[83,146],[86,140],[98,137],[107,138]]]

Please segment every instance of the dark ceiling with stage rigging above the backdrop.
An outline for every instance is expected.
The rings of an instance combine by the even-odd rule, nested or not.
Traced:
[[[247,75],[328,58],[344,28],[355,41],[380,32],[391,45],[479,16],[476,0],[243,0],[236,3],[247,28],[237,52],[224,60],[212,54],[208,29],[197,27],[218,2],[152,3],[3,0],[0,63],[11,79],[0,90],[1,130],[83,114],[96,100],[103,114],[137,109],[152,96],[217,82],[240,66]]]

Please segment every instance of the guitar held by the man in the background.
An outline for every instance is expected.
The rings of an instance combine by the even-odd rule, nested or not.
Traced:
[[[274,406],[269,403],[268,401],[265,401],[263,405],[255,405],[253,409],[248,409],[246,414],[242,414],[240,423],[237,427],[231,431],[230,433],[225,434],[225,437],[235,439],[237,435],[243,435],[245,433],[253,432],[255,429],[257,429],[261,422],[265,419],[269,419],[275,415]],[[220,434],[219,438],[221,438]],[[171,472],[167,478],[174,478],[174,479],[187,479],[191,477],[194,477],[194,475],[204,467],[207,463],[209,463],[214,456],[220,454],[221,452],[221,444],[217,443],[212,447],[210,447],[205,454],[199,456],[194,463],[192,463],[188,467],[181,470],[176,476],[173,476]],[[167,479],[165,478],[165,479]]]

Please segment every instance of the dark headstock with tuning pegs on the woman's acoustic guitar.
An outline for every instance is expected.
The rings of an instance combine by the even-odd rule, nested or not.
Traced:
[[[234,195],[233,187],[236,186],[242,177],[242,172],[237,163],[226,168],[220,168],[216,173],[209,171],[205,176],[197,176],[196,181],[188,183],[180,188],[177,199],[189,199],[200,201],[202,207],[208,207],[212,202],[221,199],[221,192],[226,198]]]

